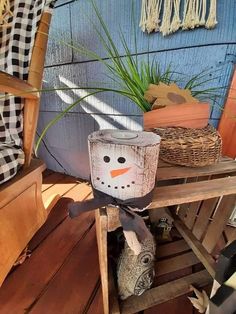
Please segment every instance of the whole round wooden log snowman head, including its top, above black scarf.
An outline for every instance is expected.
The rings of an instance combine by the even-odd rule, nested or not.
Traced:
[[[89,151],[94,188],[122,200],[149,193],[155,184],[160,142],[153,134],[158,145],[149,147],[143,140],[150,142],[151,134],[116,130],[91,134]],[[149,156],[150,148],[154,155]]]

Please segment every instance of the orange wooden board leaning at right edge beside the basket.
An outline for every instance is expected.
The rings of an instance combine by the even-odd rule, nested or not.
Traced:
[[[219,123],[219,132],[222,137],[222,152],[224,155],[236,158],[236,69]]]

